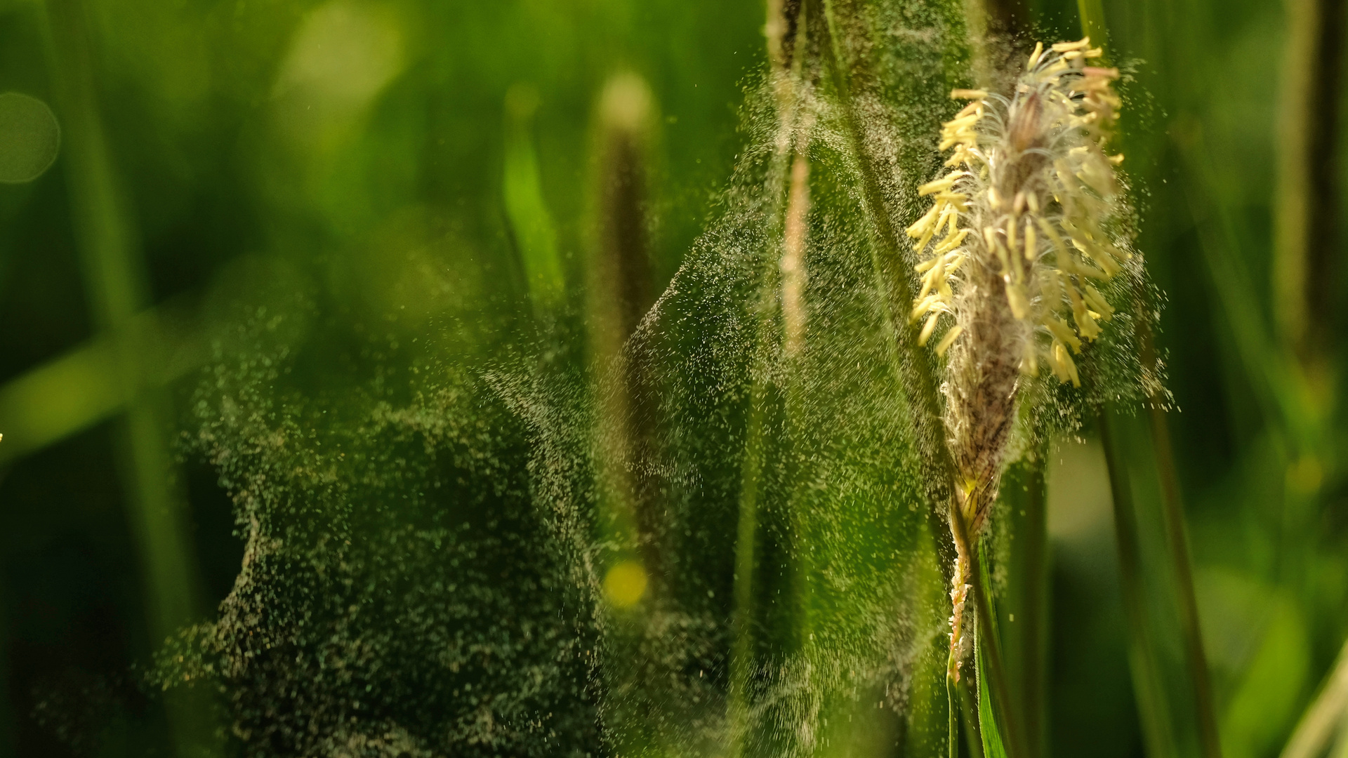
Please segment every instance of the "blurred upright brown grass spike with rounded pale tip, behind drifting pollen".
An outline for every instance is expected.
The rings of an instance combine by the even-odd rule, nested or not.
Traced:
[[[624,347],[655,299],[646,214],[652,112],[650,89],[635,74],[611,77],[600,94],[594,239],[586,260],[589,361],[597,392],[596,538],[603,545],[592,571],[600,580],[600,614],[607,616],[609,655],[601,662],[607,684],[630,693],[627,701],[605,703],[619,755],[658,746],[648,709],[661,707],[662,693],[659,682],[643,678],[651,666],[646,637],[656,614],[667,611],[670,595],[658,490],[650,473],[659,457],[661,426],[651,367],[643,352]]]

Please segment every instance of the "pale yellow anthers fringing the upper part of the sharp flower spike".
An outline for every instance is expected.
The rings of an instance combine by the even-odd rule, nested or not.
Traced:
[[[1117,192],[1113,166],[1123,161],[1122,154],[1103,151],[1122,107],[1111,88],[1111,81],[1119,77],[1117,69],[1086,63],[1103,54],[1100,47],[1091,47],[1089,38],[1047,50],[1043,43],[1035,45],[1010,108],[1014,113],[1026,103],[1023,98],[1042,98],[1038,105],[1042,125],[1033,128],[1046,131],[1047,142],[1039,144],[1049,144],[1057,158],[1041,178],[1030,183],[1018,181],[1014,197],[999,192],[996,182],[1002,179],[992,181],[999,161],[1016,161],[1019,151],[1030,144],[1027,139],[1039,138],[999,132],[1008,128],[1004,111],[991,129],[984,127],[987,109],[1007,108],[999,105],[1000,100],[987,100],[987,90],[950,93],[952,98],[969,100],[941,124],[940,150],[949,151],[944,163],[952,171],[918,187],[919,197],[933,196],[931,208],[906,229],[915,243],[914,251],[925,258],[914,266],[921,291],[911,317],[925,318],[921,344],[927,344],[936,333],[942,314],[956,314],[961,302],[956,290],[962,282],[957,272],[973,256],[980,266],[1000,270],[1010,316],[1034,326],[1031,333],[1039,334],[1039,340],[1047,332],[1046,348],[1037,339],[1016,348],[1020,371],[1037,374],[1039,357],[1046,355],[1060,380],[1081,384],[1072,353],[1081,351],[1082,340],[1095,340],[1101,333],[1099,322],[1113,314],[1113,308],[1088,279],[1109,279],[1122,271],[1120,262],[1131,258],[1097,224],[1112,213],[1111,198]],[[1068,135],[1066,151],[1051,147],[1061,144],[1053,134]],[[1046,202],[1057,206],[1043,208]],[[971,229],[975,218],[981,223]],[[971,233],[977,244],[968,245]],[[1070,313],[1072,322],[1060,313]],[[960,325],[948,329],[936,347],[937,353],[944,355],[962,333]]]

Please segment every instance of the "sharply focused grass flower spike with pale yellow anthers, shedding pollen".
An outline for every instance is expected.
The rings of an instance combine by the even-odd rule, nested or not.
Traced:
[[[1113,313],[1095,283],[1130,258],[1108,231],[1123,156],[1104,150],[1120,101],[1117,69],[1089,65],[1100,55],[1089,38],[1039,43],[1010,96],[956,89],[969,104],[941,128],[948,173],[919,187],[933,205],[907,229],[921,259],[911,314],[925,320],[921,343],[946,325],[936,351],[949,356],[946,433],[971,541],[996,496],[1023,378],[1047,366],[1080,386],[1073,356]]]

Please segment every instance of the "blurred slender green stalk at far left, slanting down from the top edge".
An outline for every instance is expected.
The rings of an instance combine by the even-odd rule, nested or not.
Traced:
[[[158,645],[193,620],[201,597],[183,525],[186,503],[173,484],[166,398],[147,390],[142,380],[143,366],[152,360],[156,347],[144,329],[136,328],[148,285],[102,131],[84,3],[50,0],[39,8],[65,120],[71,213],[90,312],[98,329],[115,340],[115,372],[109,379],[131,398],[117,452],[146,577],[148,633],[151,645]],[[204,701],[170,699],[166,711],[177,754],[213,753]]]

